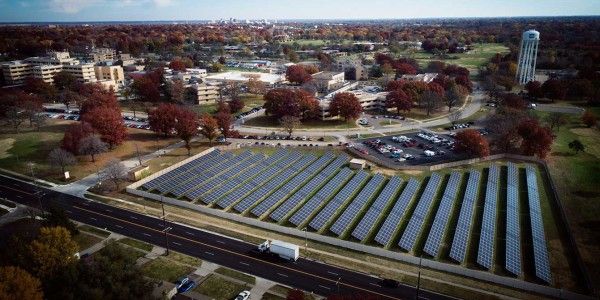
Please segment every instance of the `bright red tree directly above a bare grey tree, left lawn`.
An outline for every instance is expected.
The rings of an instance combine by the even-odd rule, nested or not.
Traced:
[[[108,143],[110,149],[123,143],[127,137],[127,129],[121,112],[113,108],[94,108],[83,115],[83,120],[92,125],[102,140]]]

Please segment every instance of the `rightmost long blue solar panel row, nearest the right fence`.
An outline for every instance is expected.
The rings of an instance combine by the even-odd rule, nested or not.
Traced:
[[[531,217],[531,235],[533,236],[535,276],[550,283],[550,262],[548,259],[548,248],[546,248],[546,235],[544,233],[544,221],[542,220],[542,209],[540,207],[537,174],[535,173],[535,169],[530,165],[526,168],[526,174],[529,216]]]

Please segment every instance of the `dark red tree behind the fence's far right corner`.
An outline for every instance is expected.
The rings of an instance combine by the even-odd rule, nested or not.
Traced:
[[[523,155],[537,155],[539,158],[546,158],[554,136],[549,127],[540,126],[536,119],[525,119],[517,126],[517,133],[522,139],[521,152]]]

